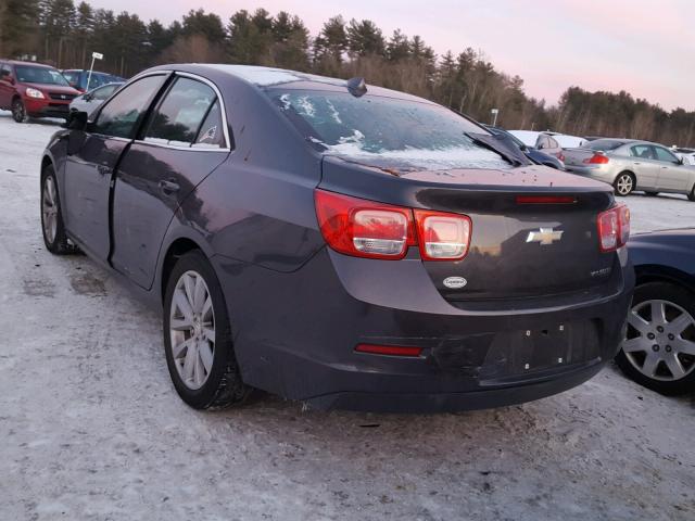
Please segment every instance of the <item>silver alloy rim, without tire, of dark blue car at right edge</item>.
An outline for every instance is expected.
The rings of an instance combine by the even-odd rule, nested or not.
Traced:
[[[695,319],[681,306],[644,301],[630,310],[628,323],[631,328],[621,347],[644,376],[675,381],[695,370]]]

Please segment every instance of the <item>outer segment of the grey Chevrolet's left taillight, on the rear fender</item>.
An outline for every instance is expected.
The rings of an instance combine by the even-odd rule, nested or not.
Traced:
[[[324,239],[340,253],[399,259],[416,244],[413,212],[372,201],[316,190],[316,216]]]

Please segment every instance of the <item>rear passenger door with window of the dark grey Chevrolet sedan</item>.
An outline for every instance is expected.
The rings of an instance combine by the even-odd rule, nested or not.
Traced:
[[[152,285],[174,213],[229,151],[217,89],[203,78],[177,75],[118,168],[114,268],[146,289]]]

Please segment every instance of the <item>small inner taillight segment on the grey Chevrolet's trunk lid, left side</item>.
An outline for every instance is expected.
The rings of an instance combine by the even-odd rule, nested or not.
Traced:
[[[415,211],[420,255],[425,260],[459,260],[468,253],[471,224],[466,215]]]

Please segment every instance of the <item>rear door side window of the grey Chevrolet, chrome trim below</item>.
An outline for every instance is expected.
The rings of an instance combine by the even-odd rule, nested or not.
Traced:
[[[224,148],[215,91],[201,81],[178,78],[153,113],[144,140],[176,147]]]

